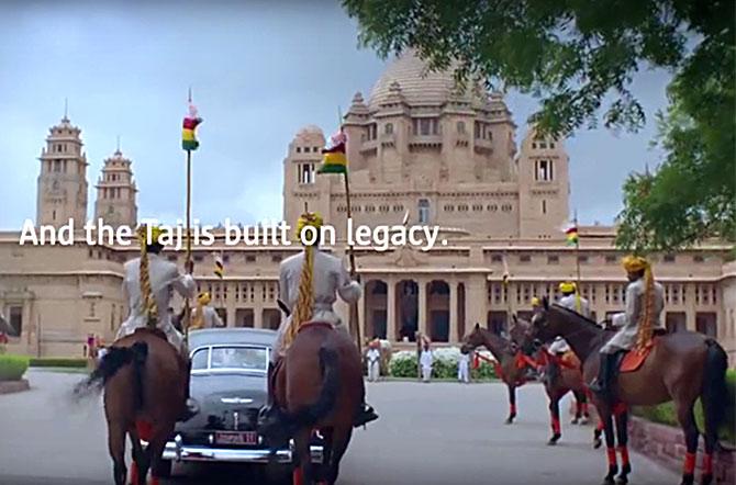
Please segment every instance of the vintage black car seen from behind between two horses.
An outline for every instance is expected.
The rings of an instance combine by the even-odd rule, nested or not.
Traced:
[[[193,330],[191,396],[199,413],[177,424],[164,450],[159,476],[170,474],[172,462],[269,462],[270,450],[256,430],[260,407],[266,403],[266,374],[276,332],[252,328]],[[290,464],[292,447],[280,449],[275,462]],[[317,438],[312,460],[322,460]]]

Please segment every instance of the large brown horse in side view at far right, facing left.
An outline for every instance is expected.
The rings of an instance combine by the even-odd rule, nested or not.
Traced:
[[[583,380],[589,383],[598,375],[601,347],[613,336],[594,322],[558,305],[543,300],[543,308],[532,319],[527,342],[533,339],[548,341],[562,336],[578,358],[583,362]],[[678,420],[684,431],[687,453],[682,484],[694,483],[695,454],[699,431],[693,408],[700,397],[705,417],[705,456],[703,458],[703,484],[713,482],[713,451],[717,443],[717,430],[723,420],[726,402],[725,373],[727,357],[723,348],[712,338],[690,331],[656,337],[657,341],[642,366],[622,373],[613,385],[620,405],[593,396],[593,403],[605,426],[609,472],[604,483],[614,483],[617,473],[615,440],[622,460],[618,483],[627,483],[631,464],[627,443],[627,406],[650,406],[674,402]],[[614,439],[613,416],[616,437]]]

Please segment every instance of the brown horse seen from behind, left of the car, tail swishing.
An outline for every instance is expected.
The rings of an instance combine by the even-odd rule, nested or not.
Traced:
[[[126,435],[133,447],[132,483],[145,485],[148,470],[152,483],[158,483],[166,440],[186,406],[185,365],[163,334],[142,328],[115,341],[92,374],[75,388],[78,396],[104,388],[115,485],[124,485],[127,476]],[[145,450],[141,439],[148,441]]]

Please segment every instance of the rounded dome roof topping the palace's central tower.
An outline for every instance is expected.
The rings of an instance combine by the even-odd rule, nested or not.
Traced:
[[[398,83],[401,94],[410,105],[441,105],[450,97],[467,102],[484,102],[484,89],[465,89],[460,94],[453,70],[434,71],[413,50],[399,56],[381,75],[370,93],[369,105],[378,108],[390,95],[391,86]],[[394,84],[395,86],[395,84]],[[472,86],[472,84],[469,84]]]

